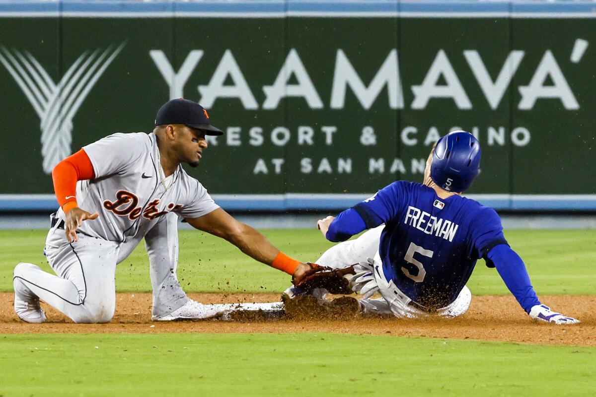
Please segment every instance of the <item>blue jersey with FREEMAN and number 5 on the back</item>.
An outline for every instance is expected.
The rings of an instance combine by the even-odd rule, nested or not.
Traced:
[[[495,210],[459,195],[441,199],[420,183],[398,181],[354,210],[367,228],[384,223],[379,254],[387,281],[412,301],[436,309],[449,305],[479,258],[506,244]]]

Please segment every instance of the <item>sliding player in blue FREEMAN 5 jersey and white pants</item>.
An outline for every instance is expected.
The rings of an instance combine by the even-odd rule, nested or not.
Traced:
[[[316,262],[332,268],[357,263],[350,282],[364,295],[359,299],[362,312],[398,317],[464,314],[471,301],[465,283],[483,258],[531,318],[579,323],[541,304],[522,258],[505,240],[499,215],[461,195],[479,174],[480,152],[470,133],[449,133],[437,141],[427,160],[424,184],[394,182],[336,218],[319,220],[328,240],[343,243]],[[377,292],[382,298],[371,299]],[[286,293],[292,298],[300,291],[294,287]]]

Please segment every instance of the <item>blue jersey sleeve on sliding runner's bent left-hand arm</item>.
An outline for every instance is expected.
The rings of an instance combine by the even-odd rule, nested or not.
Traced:
[[[383,187],[370,199],[353,207],[364,220],[367,229],[388,223],[398,216],[406,196],[405,183],[404,181],[393,182],[391,185]]]

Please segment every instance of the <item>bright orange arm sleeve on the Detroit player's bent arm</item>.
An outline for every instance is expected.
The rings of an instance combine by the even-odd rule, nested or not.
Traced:
[[[72,208],[78,207],[76,202],[77,181],[93,179],[94,177],[93,164],[91,164],[89,156],[83,149],[58,162],[54,167],[52,171],[54,192],[58,204],[60,204],[65,214]]]

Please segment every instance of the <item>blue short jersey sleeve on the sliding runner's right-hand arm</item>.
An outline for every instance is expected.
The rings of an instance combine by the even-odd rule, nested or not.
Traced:
[[[497,245],[507,244],[499,215],[492,208],[482,207],[474,216],[470,231],[473,253],[477,258],[485,258],[488,267],[495,267],[486,254]]]

